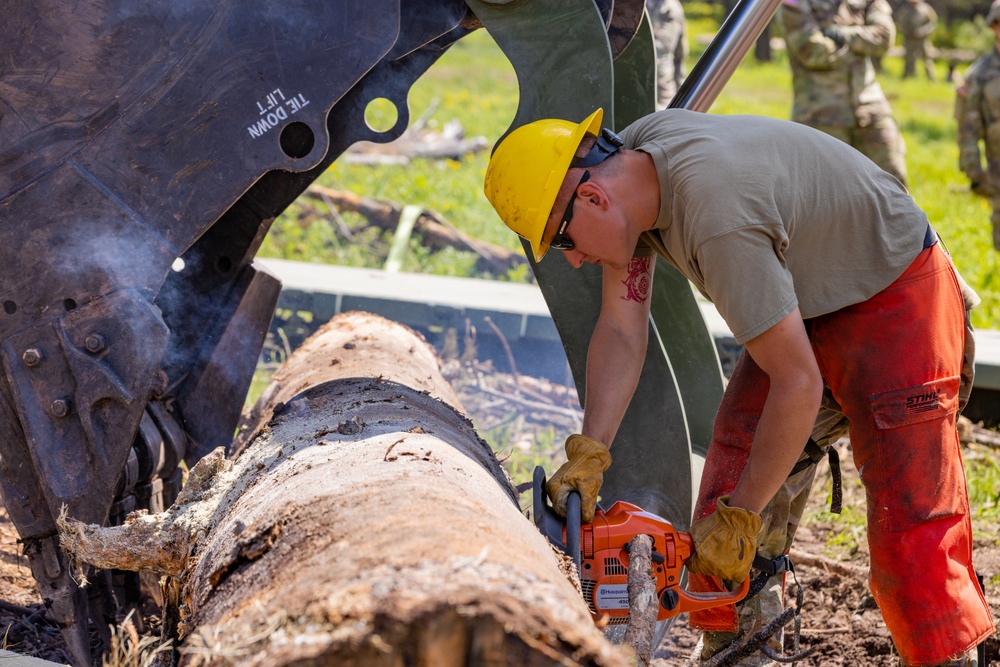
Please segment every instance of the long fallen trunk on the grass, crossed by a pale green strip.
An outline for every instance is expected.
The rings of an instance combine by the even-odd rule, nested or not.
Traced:
[[[309,186],[305,191],[305,197],[318,199],[327,206],[332,204],[340,212],[358,213],[364,216],[368,224],[389,232],[395,231],[399,225],[399,216],[403,212],[403,205],[397,202],[362,197],[353,192],[331,190],[316,184]],[[458,248],[476,253],[480,257],[477,269],[481,271],[502,273],[527,262],[521,252],[501,248],[463,234],[434,211],[422,211],[417,218],[414,231],[421,235],[424,245],[432,250]]]

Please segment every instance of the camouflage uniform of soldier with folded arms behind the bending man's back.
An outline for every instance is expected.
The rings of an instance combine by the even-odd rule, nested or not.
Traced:
[[[872,56],[893,43],[886,0],[785,0],[781,8],[792,65],[792,120],[858,149],[906,184],[906,148],[875,79]]]

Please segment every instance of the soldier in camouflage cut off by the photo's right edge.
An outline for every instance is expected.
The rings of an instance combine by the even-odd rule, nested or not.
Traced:
[[[993,29],[993,50],[972,63],[955,95],[958,121],[958,165],[969,178],[972,191],[993,202],[993,247],[1000,250],[1000,0],[994,0],[986,15]],[[986,165],[979,142],[986,148]]]

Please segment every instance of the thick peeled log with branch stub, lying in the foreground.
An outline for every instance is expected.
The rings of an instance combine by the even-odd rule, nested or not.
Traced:
[[[63,519],[62,546],[168,575],[184,666],[627,664],[457,405],[419,334],[339,315],[238,458],[205,457],[161,514]]]

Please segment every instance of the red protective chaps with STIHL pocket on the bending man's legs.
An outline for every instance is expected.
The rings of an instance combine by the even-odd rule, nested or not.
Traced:
[[[975,580],[955,420],[965,312],[950,260],[920,253],[868,301],[807,320],[816,360],[851,423],[867,494],[871,589],[904,665],[937,665],[994,628]],[[749,457],[767,376],[744,353],[716,419],[695,518],[732,491]],[[697,591],[723,590],[692,575]],[[735,606],[693,612],[692,627],[735,632]]]

